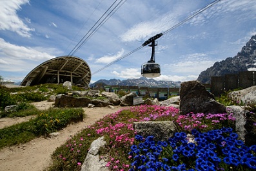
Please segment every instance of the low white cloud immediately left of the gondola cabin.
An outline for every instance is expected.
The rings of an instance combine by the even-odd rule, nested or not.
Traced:
[[[141,71],[138,68],[126,68],[120,73],[117,71],[112,72],[115,76],[118,76],[120,78],[140,78],[141,77]]]

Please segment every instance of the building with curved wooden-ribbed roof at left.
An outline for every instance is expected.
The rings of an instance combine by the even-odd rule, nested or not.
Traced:
[[[88,87],[92,73],[88,64],[79,57],[62,56],[52,58],[35,67],[20,85],[61,84],[70,81]]]

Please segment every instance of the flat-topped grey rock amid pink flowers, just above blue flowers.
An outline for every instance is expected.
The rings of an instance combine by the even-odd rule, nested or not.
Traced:
[[[162,122],[134,122],[134,131],[146,138],[154,136],[155,141],[167,141],[177,132],[177,127],[173,121]]]

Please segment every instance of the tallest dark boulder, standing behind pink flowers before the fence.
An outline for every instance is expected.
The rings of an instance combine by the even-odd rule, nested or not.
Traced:
[[[180,113],[226,113],[226,107],[214,100],[214,96],[206,91],[198,81],[181,83]]]

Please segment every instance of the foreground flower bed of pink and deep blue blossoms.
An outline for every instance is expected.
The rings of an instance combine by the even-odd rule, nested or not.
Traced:
[[[179,132],[168,142],[154,142],[152,137],[141,138],[133,130],[133,122],[166,120],[173,120],[179,127]],[[224,127],[229,128],[227,129],[229,132],[225,132]],[[255,167],[255,147],[246,147],[237,140],[236,134],[230,132],[234,128],[235,118],[231,113],[190,113],[181,116],[179,110],[174,107],[134,106],[105,116],[90,127],[86,127],[74,138],[69,139],[63,146],[55,150],[52,156],[53,165],[48,170],[81,170],[90,144],[101,136],[104,136],[107,145],[101,149],[99,155],[108,162],[106,167],[110,170],[168,170],[169,168],[170,170],[183,170],[184,167],[197,170],[199,166],[204,165],[213,167],[212,163],[218,164],[215,167],[217,169],[231,169],[230,167],[233,166],[231,162],[235,162],[235,160],[228,160],[231,159],[230,154],[225,154],[222,151],[222,149],[227,150],[231,147],[235,147],[237,150],[247,150],[246,155],[251,155],[250,161],[244,160],[243,164],[236,163],[239,169]],[[187,143],[186,134],[188,133],[195,136],[195,143]],[[219,136],[216,140],[212,140],[213,135]],[[145,145],[149,139],[155,145],[152,141],[150,141],[150,145]],[[152,149],[148,149],[150,147]],[[206,154],[206,152],[208,153]],[[206,160],[207,155],[212,155],[212,159],[208,157]],[[232,157],[235,158],[235,156]],[[241,162],[241,158],[239,159]],[[204,161],[208,161],[208,163],[203,163]],[[155,165],[159,168],[155,169],[153,167]]]

